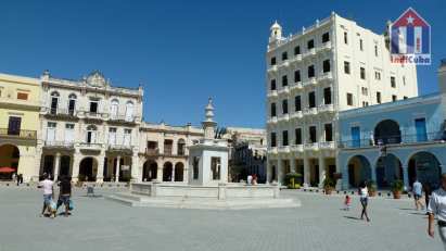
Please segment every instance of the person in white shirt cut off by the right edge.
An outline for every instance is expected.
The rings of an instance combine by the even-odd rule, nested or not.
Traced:
[[[432,192],[428,205],[428,235],[434,238],[434,217],[438,223],[438,234],[446,250],[446,173],[442,174],[442,186]]]

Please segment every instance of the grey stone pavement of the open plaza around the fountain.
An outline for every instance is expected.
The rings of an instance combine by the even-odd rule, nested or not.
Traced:
[[[111,190],[99,190],[110,193]],[[206,211],[130,208],[76,190],[71,217],[39,217],[41,192],[0,189],[0,251],[15,250],[443,250],[428,237],[425,215],[411,200],[371,199],[371,223],[357,219],[359,201],[282,191],[297,209]]]

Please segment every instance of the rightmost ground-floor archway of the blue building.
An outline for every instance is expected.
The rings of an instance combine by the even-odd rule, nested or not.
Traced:
[[[408,167],[410,186],[418,179],[423,185],[429,184],[433,189],[439,187],[442,168],[434,154],[417,152],[409,159]]]

